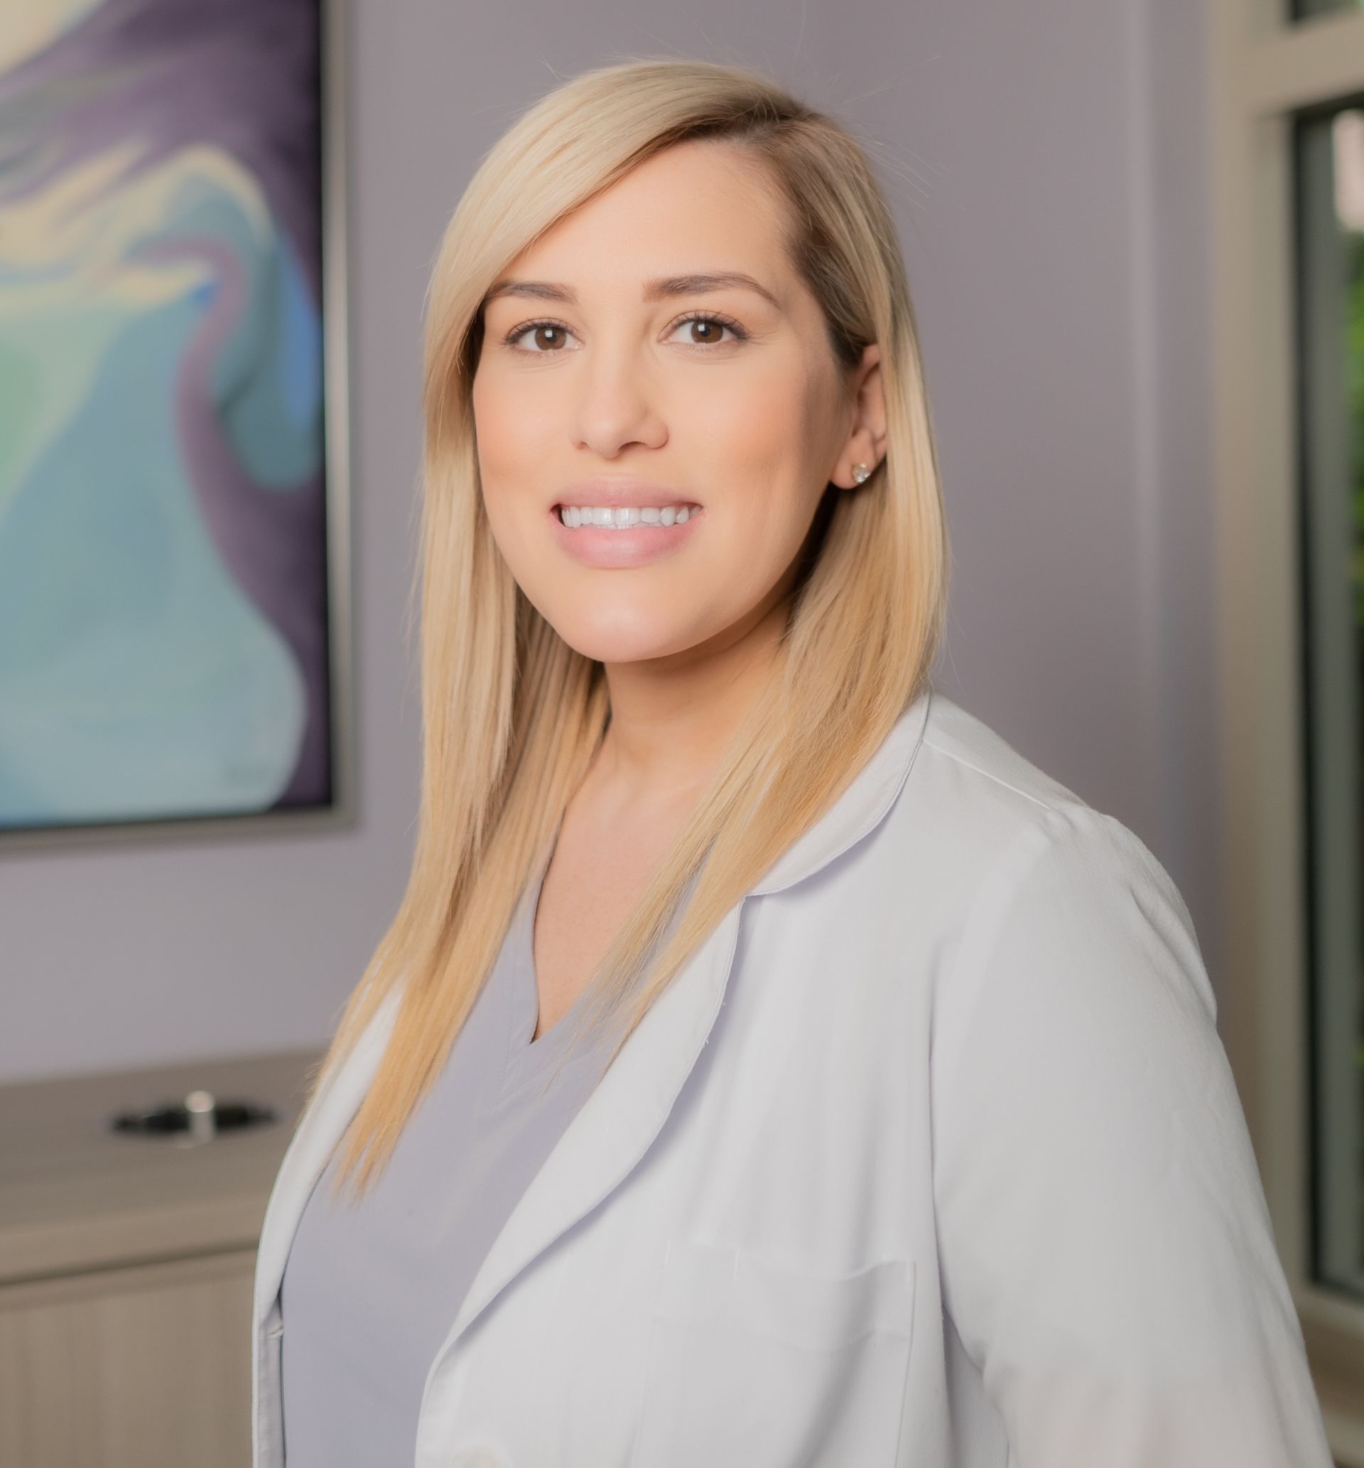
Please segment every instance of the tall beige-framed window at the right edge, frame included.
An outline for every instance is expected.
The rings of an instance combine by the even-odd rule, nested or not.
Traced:
[[[1220,1020],[1338,1461],[1364,1468],[1364,0],[1207,0]]]

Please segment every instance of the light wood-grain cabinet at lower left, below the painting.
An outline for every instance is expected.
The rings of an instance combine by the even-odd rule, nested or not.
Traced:
[[[251,1284],[314,1051],[0,1086],[0,1465],[249,1468]],[[194,1089],[277,1122],[109,1130]]]

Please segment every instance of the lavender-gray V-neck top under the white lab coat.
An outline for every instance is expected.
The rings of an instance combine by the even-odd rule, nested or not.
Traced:
[[[606,1053],[595,1041],[544,1092],[582,998],[531,1042],[547,868],[549,857],[387,1170],[358,1207],[345,1193],[333,1202],[333,1158],[304,1208],[280,1296],[287,1468],[414,1461],[427,1371],[493,1240],[598,1079]]]

